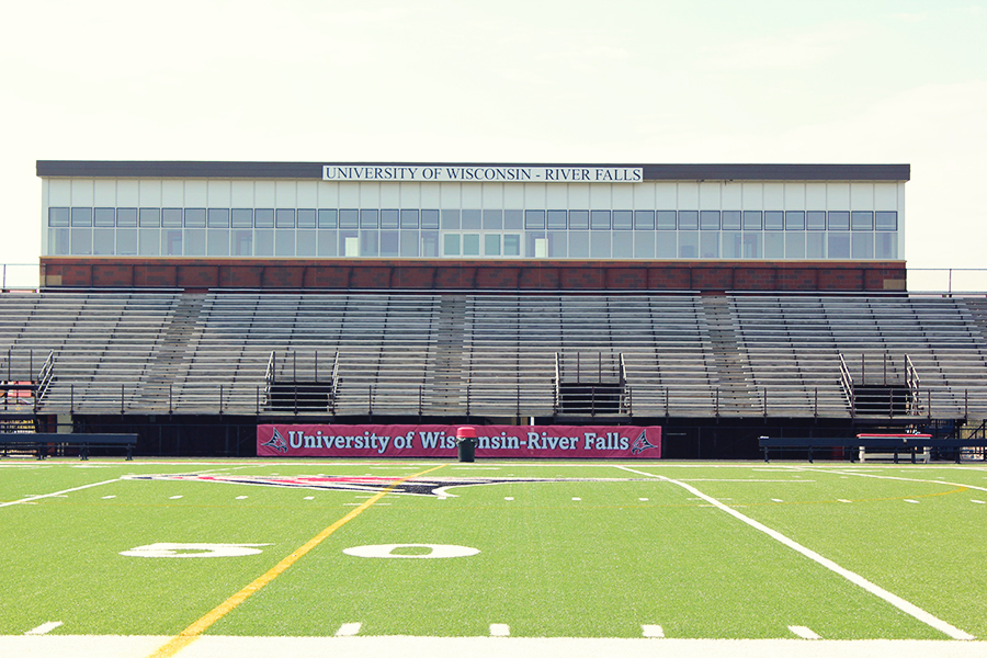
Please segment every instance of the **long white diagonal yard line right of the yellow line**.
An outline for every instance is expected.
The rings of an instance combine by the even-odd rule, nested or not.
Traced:
[[[842,576],[843,578],[846,578],[853,585],[862,588],[863,590],[874,594],[875,597],[877,597],[880,599],[883,599],[884,601],[890,603],[892,605],[894,605],[901,612],[914,616],[915,619],[922,622],[923,624],[932,626],[937,631],[940,631],[941,633],[946,634],[948,636],[952,637],[953,639],[975,639],[975,637],[973,635],[971,635],[969,633],[966,633],[965,631],[961,631],[960,628],[953,626],[952,624],[940,620],[939,617],[934,616],[933,614],[931,614],[929,612],[926,612],[918,605],[915,605],[914,603],[909,603],[901,597],[893,594],[892,592],[887,591],[886,589],[884,589],[877,585],[874,585],[873,582],[871,582],[863,576],[860,576],[859,574],[855,574],[855,572],[851,571],[850,569],[844,569],[840,565],[832,561],[831,559],[822,557],[815,551],[807,548],[807,547],[803,546],[802,544],[799,544],[798,542],[786,537],[785,535],[781,534],[780,532],[768,527],[763,523],[760,523],[758,521],[755,521],[750,517],[746,517],[745,514],[741,514],[734,508],[718,501],[717,499],[713,498],[712,496],[706,496],[705,494],[703,494],[702,491],[700,491],[699,489],[696,489],[695,487],[693,487],[691,485],[687,485],[685,483],[673,480],[671,478],[665,477],[663,475],[655,475],[653,473],[635,470],[633,468],[628,468],[627,466],[617,466],[617,468],[622,468],[624,470],[627,470],[628,473],[635,473],[637,475],[645,475],[648,477],[654,477],[661,481],[666,481],[666,483],[682,487],[683,489],[685,489],[693,496],[697,496],[697,497],[702,498],[703,500],[705,500],[713,507],[726,512],[727,514],[734,517],[738,521],[741,521],[741,522],[746,523],[747,525],[750,525],[755,530],[767,534],[772,540],[787,546],[789,548],[792,548],[793,551],[795,551],[797,553],[801,553],[802,555],[804,555],[805,557],[809,558],[810,560],[817,563],[818,565],[826,567],[833,574]]]

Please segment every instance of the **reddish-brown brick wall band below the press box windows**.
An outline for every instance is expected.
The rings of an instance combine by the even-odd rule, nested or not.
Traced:
[[[42,258],[48,287],[462,291],[905,290],[904,262]]]

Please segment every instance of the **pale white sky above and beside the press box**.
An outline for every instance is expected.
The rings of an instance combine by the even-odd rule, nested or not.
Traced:
[[[0,263],[36,160],[910,163],[982,268],[987,0],[0,0]]]

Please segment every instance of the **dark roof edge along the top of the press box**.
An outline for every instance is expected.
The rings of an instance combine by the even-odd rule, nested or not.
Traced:
[[[640,167],[645,181],[907,181],[910,164],[580,164],[535,162],[220,162],[38,160],[37,175],[69,178],[322,178],[324,164],[366,167]]]

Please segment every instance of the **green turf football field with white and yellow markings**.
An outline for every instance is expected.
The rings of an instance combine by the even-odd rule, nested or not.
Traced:
[[[987,637],[974,465],[2,460],[0,551],[4,636]]]

